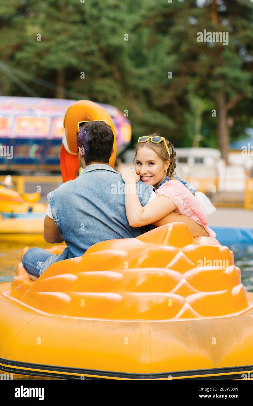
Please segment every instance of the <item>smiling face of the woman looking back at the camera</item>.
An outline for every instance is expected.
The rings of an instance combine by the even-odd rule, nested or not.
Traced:
[[[159,155],[148,147],[138,149],[135,161],[135,172],[147,185],[158,185],[165,179],[170,160],[163,162]]]

